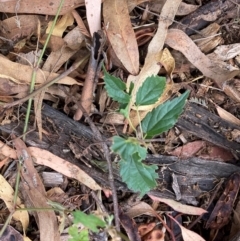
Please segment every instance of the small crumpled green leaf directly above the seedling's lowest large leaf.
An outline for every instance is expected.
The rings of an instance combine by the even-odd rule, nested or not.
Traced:
[[[138,153],[142,160],[147,156],[147,149],[141,147],[138,141],[131,137],[124,139],[120,136],[114,136],[111,149],[118,153],[123,160],[127,160],[133,153]]]

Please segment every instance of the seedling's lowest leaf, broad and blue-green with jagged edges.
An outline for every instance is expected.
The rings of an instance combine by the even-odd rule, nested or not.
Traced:
[[[151,189],[155,188],[156,178],[158,177],[155,170],[156,165],[145,165],[141,162],[138,153],[128,156],[128,159],[120,161],[120,175],[128,188],[140,192],[143,196]]]

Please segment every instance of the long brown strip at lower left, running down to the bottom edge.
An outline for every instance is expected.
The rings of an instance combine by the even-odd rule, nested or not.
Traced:
[[[19,139],[13,139],[19,160],[22,160],[21,178],[22,194],[26,203],[34,208],[47,208],[51,206],[47,203],[47,196],[42,180],[33,166],[31,153],[25,143]],[[59,241],[60,233],[58,231],[57,217],[54,211],[36,211],[34,212],[39,231],[40,241],[52,240]]]

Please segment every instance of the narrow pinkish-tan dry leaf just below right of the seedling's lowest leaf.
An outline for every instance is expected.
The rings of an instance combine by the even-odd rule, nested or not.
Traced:
[[[207,213],[207,211],[202,208],[181,204],[180,202],[176,202],[172,199],[155,197],[153,195],[148,195],[148,196],[154,201],[166,203],[168,206],[170,206],[171,208],[173,208],[174,210],[180,213],[189,214],[189,215],[202,215],[204,213]]]

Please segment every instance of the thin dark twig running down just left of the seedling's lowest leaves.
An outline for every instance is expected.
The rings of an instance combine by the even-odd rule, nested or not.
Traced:
[[[110,159],[110,152],[108,149],[107,144],[103,141],[102,135],[99,132],[99,130],[97,129],[97,127],[95,126],[95,124],[92,122],[92,120],[90,119],[88,113],[86,112],[86,110],[82,107],[81,103],[77,103],[78,108],[81,109],[84,117],[86,118],[88,124],[90,125],[93,133],[95,134],[95,137],[98,141],[101,141],[102,143],[102,148],[103,148],[103,152],[104,152],[104,156],[107,160],[108,163],[108,169],[109,169],[109,175],[108,175],[108,180],[109,180],[109,184],[110,187],[112,189],[112,196],[113,196],[113,209],[114,209],[114,216],[115,216],[115,226],[116,226],[116,230],[118,232],[120,232],[120,222],[119,222],[119,210],[118,210],[118,199],[117,199],[117,192],[116,192],[116,188],[114,185],[114,177],[113,177],[113,168],[112,168],[112,162]]]

